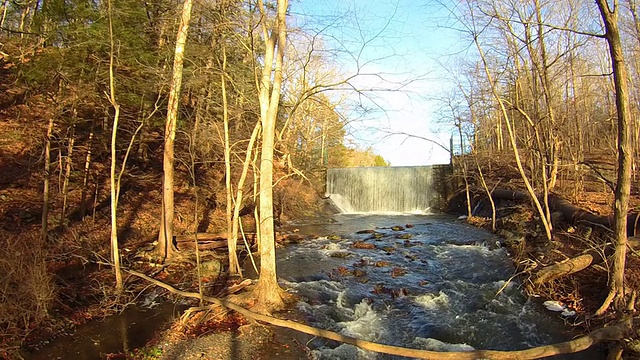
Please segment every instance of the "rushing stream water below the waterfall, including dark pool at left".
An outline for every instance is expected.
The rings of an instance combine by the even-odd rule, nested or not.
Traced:
[[[277,250],[281,284],[299,296],[297,310],[309,325],[437,351],[524,349],[575,335],[559,313],[509,281],[515,269],[496,236],[455,217],[339,214],[293,228],[318,236]],[[176,315],[172,304],[127,310],[24,355],[102,359],[127,353]],[[398,359],[321,338],[308,346],[315,359]],[[562,358],[603,357],[590,351]]]

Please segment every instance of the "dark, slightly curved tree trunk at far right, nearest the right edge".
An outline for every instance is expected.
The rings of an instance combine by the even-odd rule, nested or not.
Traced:
[[[629,95],[627,85],[627,69],[618,27],[618,1],[613,2],[613,9],[606,0],[596,0],[605,25],[605,38],[609,45],[613,81],[616,90],[616,110],[618,115],[618,181],[615,189],[613,208],[614,248],[612,274],[609,284],[609,295],[596,314],[603,314],[612,301],[617,310],[624,306],[624,268],[627,256],[627,212],[629,209],[629,193],[631,190],[631,144],[629,138]]]

